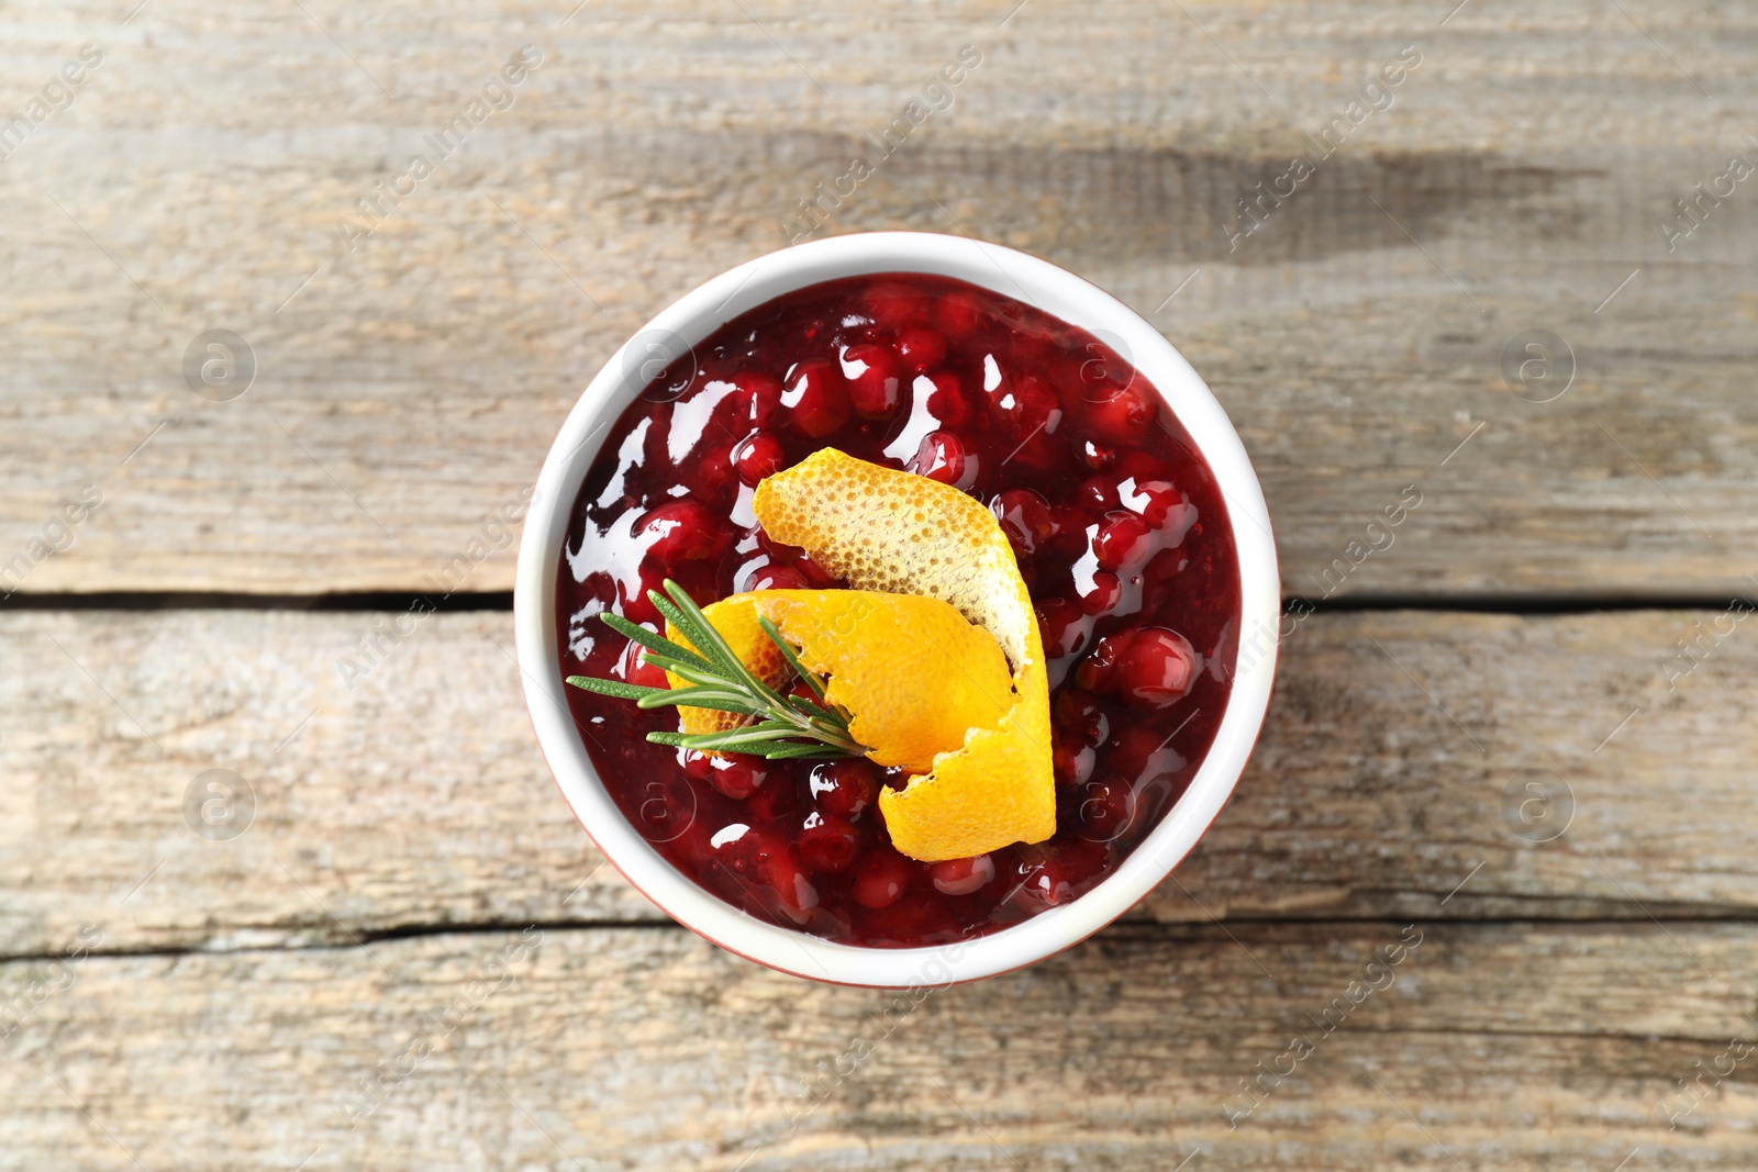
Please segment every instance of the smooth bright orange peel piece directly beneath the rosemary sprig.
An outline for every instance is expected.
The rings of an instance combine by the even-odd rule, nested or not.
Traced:
[[[948,603],[919,594],[874,590],[752,590],[701,611],[765,684],[777,687],[788,664],[758,626],[775,624],[800,662],[830,676],[826,696],[849,713],[849,734],[884,766],[926,773],[933,759],[992,726],[1013,703],[1000,645]],[[668,638],[680,640],[668,629]],[[672,687],[686,685],[668,675]],[[679,706],[686,733],[735,727],[742,717]]]

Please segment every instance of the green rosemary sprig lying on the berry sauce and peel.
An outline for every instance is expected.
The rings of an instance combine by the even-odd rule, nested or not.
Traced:
[[[638,708],[689,705],[745,717],[738,727],[721,733],[649,733],[647,740],[656,745],[677,745],[696,752],[744,752],[770,761],[858,757],[867,752],[867,747],[849,734],[849,713],[830,703],[825,682],[807,671],[800,662],[800,652],[788,645],[768,619],[758,617],[763,634],[781,648],[782,659],[805,682],[817,703],[803,696],[784,696],[752,675],[679,583],[666,578],[665,594],[649,590],[647,597],[696,650],[654,634],[622,615],[605,611],[598,617],[610,629],[642,645],[642,662],[684,678],[689,687],[642,687],[589,675],[571,675],[568,684],[601,696],[633,699]]]

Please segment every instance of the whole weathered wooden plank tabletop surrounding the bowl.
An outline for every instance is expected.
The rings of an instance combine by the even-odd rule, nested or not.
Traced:
[[[1758,1165],[1758,7],[1454,2],[0,12],[0,1168]],[[1148,315],[1317,606],[1174,882],[904,1012],[601,866],[487,525],[925,93],[819,234]]]

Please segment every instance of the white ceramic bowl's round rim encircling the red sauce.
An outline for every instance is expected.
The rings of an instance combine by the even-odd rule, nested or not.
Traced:
[[[933,272],[1037,306],[1106,341],[1159,388],[1215,471],[1239,550],[1241,648],[1227,713],[1190,787],[1123,863],[1086,894],[988,937],[919,949],[832,944],[752,919],[673,868],[612,801],[568,712],[556,643],[556,573],[580,481],[601,438],[665,360],[789,290],[863,272]],[[759,965],[837,984],[933,988],[1060,952],[1127,912],[1190,852],[1232,792],[1269,705],[1282,590],[1264,494],[1215,395],[1171,343],[1104,290],[1025,253],[956,235],[872,232],[759,257],[686,293],[619,350],[568,415],[538,476],[513,597],[519,666],[538,743],[598,849],[649,900]]]

